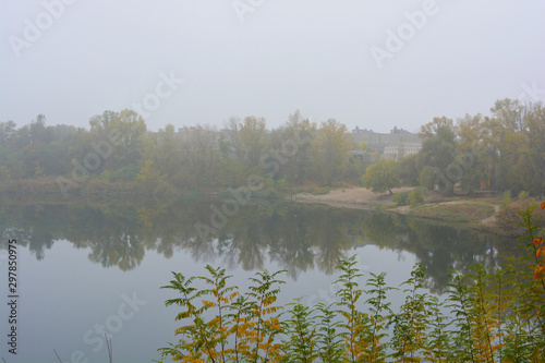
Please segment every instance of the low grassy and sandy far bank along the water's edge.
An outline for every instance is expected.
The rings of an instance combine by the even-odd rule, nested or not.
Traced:
[[[169,203],[175,199],[199,198],[232,198],[227,189],[179,190],[167,183],[117,182],[89,180],[85,184],[70,185],[63,195],[63,190],[57,180],[44,178],[40,180],[22,180],[4,182],[0,187],[0,205],[12,203]],[[457,225],[500,235],[521,235],[520,221],[517,211],[524,210],[529,205],[538,205],[542,201],[526,198],[501,207],[502,197],[497,194],[482,192],[468,195],[457,190],[455,195],[426,193],[424,201],[414,205],[398,206],[395,196],[410,193],[414,187],[392,189],[393,194],[375,194],[361,186],[346,186],[335,190],[328,187],[307,187],[305,193],[286,194],[276,189],[266,189],[252,193],[252,201],[291,199],[298,203],[322,203],[331,207],[388,210],[419,218],[433,219],[437,222]],[[66,191],[64,191],[66,192]],[[312,193],[311,193],[312,192]],[[542,211],[542,218],[545,213]]]

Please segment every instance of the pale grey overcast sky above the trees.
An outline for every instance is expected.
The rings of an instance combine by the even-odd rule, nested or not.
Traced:
[[[388,132],[545,99],[545,1],[0,2],[0,121],[148,130],[299,109]],[[137,105],[140,104],[140,105]]]

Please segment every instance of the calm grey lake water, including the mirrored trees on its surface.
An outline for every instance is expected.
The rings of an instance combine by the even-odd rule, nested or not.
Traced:
[[[358,255],[364,271],[387,273],[398,286],[415,263],[427,268],[432,293],[448,270],[475,261],[497,265],[516,242],[421,219],[307,204],[226,209],[219,202],[171,205],[25,205],[0,208],[1,356],[12,362],[150,362],[175,341],[171,271],[204,275],[226,267],[247,286],[255,270],[286,269],[281,302],[331,302],[340,257]],[[216,218],[216,219],[215,219]],[[17,354],[8,352],[9,239],[17,245]],[[392,307],[402,295],[390,294]]]

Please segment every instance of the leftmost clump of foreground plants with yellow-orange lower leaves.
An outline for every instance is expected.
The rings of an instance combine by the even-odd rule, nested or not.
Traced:
[[[162,356],[185,362],[266,362],[277,355],[279,344],[275,336],[281,330],[277,317],[269,317],[281,306],[274,305],[280,292],[276,278],[282,271],[257,273],[249,292],[241,297],[238,287],[228,286],[231,276],[225,268],[206,266],[210,277],[190,277],[172,273],[174,279],[162,289],[172,289],[181,298],[165,304],[183,308],[175,317],[184,325],[175,329],[181,336],[177,344],[161,348]],[[197,289],[195,281],[205,282],[209,289]],[[215,308],[216,315],[209,310]],[[189,319],[189,322],[187,322]]]

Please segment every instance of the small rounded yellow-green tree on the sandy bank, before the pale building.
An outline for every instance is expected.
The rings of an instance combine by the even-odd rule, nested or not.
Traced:
[[[391,189],[401,186],[398,164],[393,159],[380,159],[370,166],[362,178],[363,185],[371,189],[373,193],[384,193]]]

